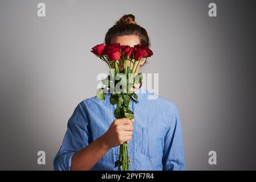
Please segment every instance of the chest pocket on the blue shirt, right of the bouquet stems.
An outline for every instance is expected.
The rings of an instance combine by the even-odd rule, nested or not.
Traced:
[[[156,143],[152,135],[150,135],[147,127],[142,128],[142,146],[141,153],[147,155],[149,158],[156,156]]]

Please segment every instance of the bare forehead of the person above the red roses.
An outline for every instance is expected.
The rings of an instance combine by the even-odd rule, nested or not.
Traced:
[[[137,35],[116,36],[111,39],[111,43],[120,43],[121,46],[124,45],[133,47],[137,44],[140,44],[140,38]]]

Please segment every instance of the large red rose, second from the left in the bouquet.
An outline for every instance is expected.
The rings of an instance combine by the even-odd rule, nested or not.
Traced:
[[[120,54],[120,43],[108,44],[105,46],[104,54],[109,57],[110,60],[119,60]]]

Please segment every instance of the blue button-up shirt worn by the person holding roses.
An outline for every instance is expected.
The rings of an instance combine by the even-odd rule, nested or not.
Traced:
[[[144,84],[143,84],[144,85]],[[181,122],[177,107],[141,87],[137,100],[129,105],[135,114],[133,137],[128,142],[129,170],[184,170]],[[68,120],[62,146],[54,158],[55,170],[70,170],[72,155],[103,135],[115,120],[116,105],[105,100],[88,98],[76,106]],[[155,99],[152,99],[155,98]],[[114,162],[119,146],[112,147],[91,170],[117,170]]]

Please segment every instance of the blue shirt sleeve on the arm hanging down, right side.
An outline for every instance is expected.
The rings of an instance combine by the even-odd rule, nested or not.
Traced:
[[[185,170],[181,122],[177,107],[174,109],[170,128],[165,136],[162,169],[164,171]]]

